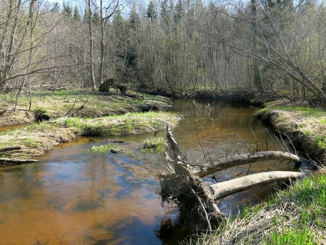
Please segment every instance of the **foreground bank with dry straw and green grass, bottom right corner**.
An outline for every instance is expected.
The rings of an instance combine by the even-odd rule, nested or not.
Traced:
[[[326,169],[245,208],[193,244],[301,245],[326,243]]]

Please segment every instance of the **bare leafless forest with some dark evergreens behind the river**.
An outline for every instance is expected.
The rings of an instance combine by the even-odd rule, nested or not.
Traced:
[[[0,2],[0,92],[97,89],[108,78],[172,95],[248,91],[326,102],[317,0]]]

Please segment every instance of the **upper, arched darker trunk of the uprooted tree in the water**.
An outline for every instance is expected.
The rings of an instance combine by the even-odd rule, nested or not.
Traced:
[[[218,172],[224,169],[230,169],[236,166],[257,163],[262,161],[292,161],[295,163],[300,162],[300,158],[297,155],[291,154],[289,152],[283,151],[260,151],[254,154],[242,154],[229,158],[215,160],[213,164],[209,165],[209,167],[204,167],[200,172],[197,172],[199,177],[204,177],[213,172]]]

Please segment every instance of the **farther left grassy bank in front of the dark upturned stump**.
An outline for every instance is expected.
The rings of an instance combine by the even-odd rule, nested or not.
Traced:
[[[130,92],[131,98],[122,94],[101,95],[72,90],[40,91],[32,94],[31,108],[25,96],[0,95],[0,108],[6,111],[0,116],[0,126],[30,123],[36,119],[54,119],[63,116],[96,118],[123,115],[128,112],[163,110],[170,107],[168,98]],[[13,107],[16,105],[16,110]],[[1,113],[0,109],[0,113]]]

